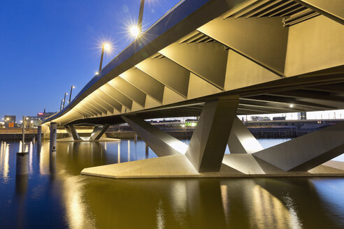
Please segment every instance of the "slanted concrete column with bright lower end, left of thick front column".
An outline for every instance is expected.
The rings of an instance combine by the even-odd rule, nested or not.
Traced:
[[[122,116],[122,119],[149,145],[157,156],[185,154],[187,145],[140,117]]]

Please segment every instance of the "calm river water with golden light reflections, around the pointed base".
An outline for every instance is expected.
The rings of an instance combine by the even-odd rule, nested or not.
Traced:
[[[83,168],[155,157],[145,142],[1,142],[1,228],[343,228],[344,178],[106,179]]]

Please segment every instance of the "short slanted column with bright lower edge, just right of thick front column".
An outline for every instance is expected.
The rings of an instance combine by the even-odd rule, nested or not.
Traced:
[[[255,136],[238,117],[234,119],[231,127],[228,147],[231,154],[253,154],[263,149]]]

